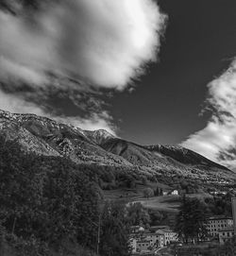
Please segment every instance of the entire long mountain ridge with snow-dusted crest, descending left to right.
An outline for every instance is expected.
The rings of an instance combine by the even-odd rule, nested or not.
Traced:
[[[180,177],[217,184],[235,180],[228,168],[187,148],[137,145],[103,129],[83,130],[35,114],[0,111],[0,136],[21,145],[25,153],[65,157],[77,164],[118,168],[161,180]]]

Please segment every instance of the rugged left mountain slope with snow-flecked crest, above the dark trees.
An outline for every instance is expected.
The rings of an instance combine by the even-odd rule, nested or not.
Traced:
[[[22,130],[24,139],[18,140],[18,143],[24,145],[25,151],[34,151],[40,155],[70,157],[77,163],[131,165],[125,159],[110,154],[93,143],[80,128],[59,124],[46,117],[0,111],[0,123],[2,124],[0,134],[4,136],[17,133],[17,129]],[[12,129],[9,129],[10,126]],[[12,140],[10,137],[8,139]],[[27,141],[30,141],[30,144]],[[50,150],[42,152],[42,149],[39,150],[40,147],[48,147]]]

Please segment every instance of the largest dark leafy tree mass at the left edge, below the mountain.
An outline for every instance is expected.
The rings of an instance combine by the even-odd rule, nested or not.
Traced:
[[[94,249],[98,186],[69,159],[25,155],[0,137],[0,223],[8,233],[51,246],[63,239]],[[92,174],[90,174],[92,175]]]

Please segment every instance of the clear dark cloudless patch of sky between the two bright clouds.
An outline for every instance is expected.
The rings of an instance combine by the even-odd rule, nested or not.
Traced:
[[[178,144],[206,126],[207,84],[236,55],[235,0],[160,0],[169,17],[160,61],[136,81],[132,94],[115,94],[111,113],[130,141]]]

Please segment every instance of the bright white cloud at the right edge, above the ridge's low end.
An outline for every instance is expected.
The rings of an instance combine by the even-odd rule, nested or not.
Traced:
[[[236,168],[236,61],[228,71],[209,85],[208,103],[212,109],[206,128],[182,143],[212,161]]]

